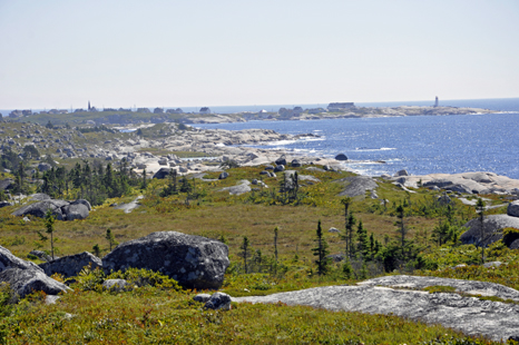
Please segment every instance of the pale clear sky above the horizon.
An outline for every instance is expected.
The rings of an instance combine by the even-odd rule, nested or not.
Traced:
[[[0,109],[519,97],[518,0],[0,0]]]

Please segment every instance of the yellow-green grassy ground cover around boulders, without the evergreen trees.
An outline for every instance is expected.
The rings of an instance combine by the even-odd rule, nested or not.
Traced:
[[[234,168],[228,170],[229,177],[224,180],[197,179],[195,191],[198,198],[188,200],[189,205],[186,205],[185,194],[159,197],[167,181],[153,180],[146,190],[134,189],[123,198],[107,200],[84,220],[57,221],[56,247],[62,256],[92,252],[92,246],[98,244],[102,256],[108,253],[108,241],[105,238],[108,228],[119,243],[154,231],[175,230],[223,239],[228,244],[232,265],[222,289],[232,296],[265,295],[358,282],[344,277],[339,264],[326,276],[312,274],[315,270],[315,257],[311,249],[315,247],[319,220],[322,221],[331,253],[344,252],[344,241],[340,235],[329,233],[327,229],[344,228],[344,208],[342,198],[337,197],[343,187],[336,180],[351,174],[296,168],[300,175],[312,175],[321,181],[302,181],[300,199],[292,205],[282,205],[272,198],[272,191],[278,189],[281,174],[277,179],[265,178],[268,188],[254,194],[232,196],[228,191],[221,191],[242,179],[260,178],[262,169]],[[216,177],[216,174],[206,176]],[[145,195],[141,206],[130,214],[110,207],[114,203],[128,203],[141,194]],[[385,207],[380,200],[373,200],[369,196],[354,198],[351,206],[369,234],[373,233],[383,244],[394,240],[398,236],[395,206],[408,203],[408,238],[420,245],[424,255],[439,257],[440,253],[445,253],[431,237],[441,218],[434,214],[433,208],[438,194],[427,189],[408,194],[382,180],[379,181],[378,194],[380,198],[389,200]],[[493,197],[493,203],[501,201],[500,197]],[[457,221],[463,223],[476,217],[472,207],[456,200],[453,206]],[[30,221],[26,223],[10,216],[18,207],[0,209],[0,245],[22,258],[32,249],[49,249],[49,244],[40,241],[37,234],[37,230],[45,228],[42,219],[30,217]],[[425,215],[424,211],[431,214]],[[492,210],[502,211],[503,209]],[[272,259],[275,227],[280,229],[277,246],[280,267],[283,269],[276,274],[243,274],[238,269],[243,237],[248,237],[254,250],[260,249],[264,257]],[[449,248],[453,248],[449,249],[452,257],[445,259],[445,263],[460,263],[457,260],[461,260],[461,249],[456,248],[461,247]],[[508,262],[517,262],[515,252],[503,248],[494,252],[498,258],[508,257]],[[417,274],[481,278],[518,288],[517,272],[517,265],[510,264],[496,269],[443,268]],[[9,344],[121,344],[123,341],[127,344],[491,344],[484,339],[467,339],[443,327],[394,316],[249,304],[235,305],[228,312],[208,312],[192,302],[193,295],[194,292],[180,293],[154,287],[119,294],[82,292],[77,288],[63,295],[56,305],[45,305],[36,296],[10,306],[8,316],[0,325],[3,325],[3,334]],[[454,339],[449,341],[451,337]],[[434,343],[434,339],[439,341]]]

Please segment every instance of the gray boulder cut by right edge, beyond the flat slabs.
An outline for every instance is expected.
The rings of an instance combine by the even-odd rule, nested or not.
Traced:
[[[518,228],[519,218],[511,217],[508,215],[491,215],[486,216],[483,220],[484,233],[481,236],[481,223],[479,218],[469,220],[464,227],[469,228],[467,231],[461,234],[460,240],[464,245],[478,245],[488,246],[494,241],[502,239],[503,228]]]

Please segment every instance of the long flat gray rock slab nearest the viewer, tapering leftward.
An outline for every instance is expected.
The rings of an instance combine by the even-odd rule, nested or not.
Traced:
[[[461,297],[458,294],[392,289],[376,286],[326,286],[233,302],[305,305],[330,310],[395,315],[483,335],[493,341],[519,335],[519,306]]]

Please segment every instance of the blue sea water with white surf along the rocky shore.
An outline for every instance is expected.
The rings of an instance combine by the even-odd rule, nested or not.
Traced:
[[[519,179],[519,99],[507,99],[501,107],[498,100],[471,100],[452,106],[509,112],[249,121],[196,127],[232,130],[264,128],[292,135],[311,132],[320,137],[254,147],[281,148],[319,157],[334,157],[343,152],[352,160],[346,164],[347,167],[371,176],[407,169],[413,175],[492,171]]]

